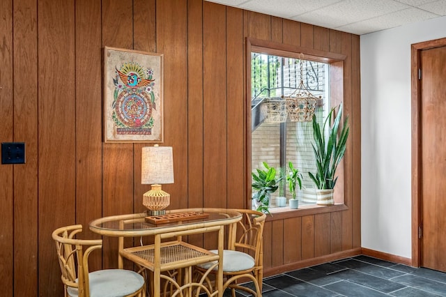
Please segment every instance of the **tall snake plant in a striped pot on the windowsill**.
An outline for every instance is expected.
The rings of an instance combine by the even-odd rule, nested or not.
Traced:
[[[320,205],[334,204],[333,189],[337,181],[337,177],[334,174],[346,151],[349,131],[348,116],[338,135],[339,123],[342,117],[342,104],[339,105],[337,114],[334,117],[335,109],[337,107],[333,107],[328,113],[322,129],[316,121],[316,116],[313,115],[314,144],[312,146],[314,157],[316,158],[316,175],[312,174],[312,172],[308,174],[318,189],[316,190],[316,195],[318,196],[317,204]],[[332,121],[333,117],[334,121]],[[327,134],[325,134],[326,126],[328,126]]]

